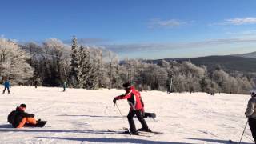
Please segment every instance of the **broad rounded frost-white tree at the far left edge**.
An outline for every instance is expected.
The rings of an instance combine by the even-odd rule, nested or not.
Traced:
[[[33,76],[33,68],[27,62],[30,58],[17,43],[0,38],[0,74],[11,82],[24,83]]]

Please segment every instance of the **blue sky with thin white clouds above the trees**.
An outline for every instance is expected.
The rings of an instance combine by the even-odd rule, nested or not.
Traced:
[[[254,0],[2,1],[0,35],[20,42],[73,35],[120,58],[256,51]]]

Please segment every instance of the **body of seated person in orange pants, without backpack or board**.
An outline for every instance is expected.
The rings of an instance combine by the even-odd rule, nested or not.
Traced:
[[[37,121],[34,118],[34,114],[28,114],[25,112],[26,105],[21,104],[20,106],[17,106],[16,108],[16,115],[14,117],[14,127],[15,128],[22,128],[26,124],[29,124],[30,126],[36,126]]]

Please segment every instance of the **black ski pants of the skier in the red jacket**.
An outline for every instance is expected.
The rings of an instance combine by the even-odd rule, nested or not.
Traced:
[[[134,124],[134,115],[135,114],[136,114],[136,117],[138,118],[138,121],[141,122],[142,128],[145,130],[148,130],[149,127],[147,126],[146,121],[143,118],[142,110],[130,110],[129,114],[127,115],[128,122],[130,125],[130,132],[133,133],[133,132],[137,131],[135,124]]]

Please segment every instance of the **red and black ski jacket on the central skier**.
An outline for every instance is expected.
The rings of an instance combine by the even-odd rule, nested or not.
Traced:
[[[141,101],[141,94],[135,90],[134,86],[130,86],[126,90],[126,94],[116,97],[116,99],[127,99],[131,110],[143,110],[143,103]]]

